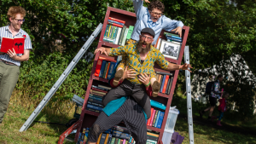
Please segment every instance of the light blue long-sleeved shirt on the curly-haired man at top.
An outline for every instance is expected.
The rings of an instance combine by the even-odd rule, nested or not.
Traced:
[[[184,26],[182,21],[171,20],[165,15],[161,16],[156,22],[153,22],[150,19],[148,8],[143,7],[142,0],[133,0],[133,6],[137,16],[137,21],[131,34],[131,38],[134,40],[139,41],[139,35],[141,34],[143,28],[150,27],[155,32],[154,42],[152,43],[154,45],[162,29],[166,30],[167,32],[171,32],[173,29],[177,28],[177,26]]]

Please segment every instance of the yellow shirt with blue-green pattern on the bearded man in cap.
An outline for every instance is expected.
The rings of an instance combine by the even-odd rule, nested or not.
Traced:
[[[148,52],[146,59],[141,64],[140,54],[137,50],[136,44],[129,44],[125,46],[119,46],[118,48],[111,48],[109,56],[126,55],[126,64],[129,69],[134,69],[137,74],[154,72],[154,62],[156,62],[162,69],[166,70],[168,67],[168,61],[162,55],[159,49],[155,49],[152,45]],[[127,78],[132,84],[143,84],[138,78]]]

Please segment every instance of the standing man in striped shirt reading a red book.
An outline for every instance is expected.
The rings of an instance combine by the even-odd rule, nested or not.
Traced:
[[[20,74],[20,61],[29,59],[29,51],[32,49],[32,43],[29,35],[20,27],[25,21],[26,10],[20,6],[10,7],[8,10],[9,25],[0,27],[0,124],[3,122],[3,116],[7,112],[10,96],[15,89]],[[13,47],[13,43],[5,43],[19,39],[15,46],[23,52],[18,54]],[[23,39],[23,42],[22,42]],[[25,43],[24,43],[25,42]],[[5,46],[11,45],[11,49],[3,52]],[[2,52],[1,52],[2,51]]]

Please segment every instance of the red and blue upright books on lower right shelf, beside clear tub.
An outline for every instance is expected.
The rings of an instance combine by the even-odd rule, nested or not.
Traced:
[[[147,125],[161,129],[165,112],[159,108],[151,107],[151,117],[148,118]]]

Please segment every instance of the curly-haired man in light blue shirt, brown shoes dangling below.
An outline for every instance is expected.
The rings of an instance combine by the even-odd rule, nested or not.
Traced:
[[[166,30],[167,32],[177,32],[178,35],[182,36],[182,27],[183,22],[178,20],[171,20],[163,15],[165,10],[165,5],[161,3],[159,0],[156,0],[150,3],[148,0],[145,1],[149,3],[148,8],[143,7],[143,0],[133,0],[133,6],[135,10],[135,14],[137,16],[137,21],[133,32],[131,33],[131,39],[128,40],[126,44],[130,43],[137,43],[139,41],[139,36],[143,28],[149,27],[154,30],[155,36],[153,37],[152,44],[154,45],[160,36],[160,32],[162,29]],[[124,73],[124,68],[126,66],[127,57],[123,55],[123,59],[118,66],[118,71],[113,79],[113,84],[119,84],[120,78]],[[160,90],[160,83],[156,80],[156,75],[153,71],[150,72],[150,84],[153,89],[153,96],[156,97]]]

